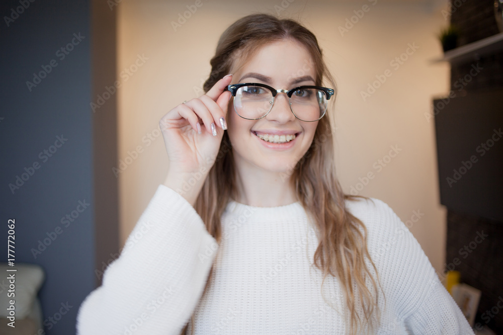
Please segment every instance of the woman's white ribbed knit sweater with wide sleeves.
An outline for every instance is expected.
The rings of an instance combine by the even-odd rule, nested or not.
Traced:
[[[368,229],[385,299],[379,334],[473,334],[420,244],[384,202],[347,201]],[[103,285],[82,303],[79,335],[343,334],[344,296],[313,263],[315,231],[300,203],[230,202],[218,245],[194,208],[160,185]],[[213,279],[201,296],[214,262]],[[190,327],[189,327],[190,330]],[[190,333],[190,332],[189,332]]]

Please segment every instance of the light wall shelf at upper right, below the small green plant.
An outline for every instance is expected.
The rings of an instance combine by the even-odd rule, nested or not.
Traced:
[[[480,56],[494,54],[499,50],[503,50],[503,33],[446,51],[444,57],[432,59],[431,62],[450,62],[451,64],[470,62],[480,59]]]

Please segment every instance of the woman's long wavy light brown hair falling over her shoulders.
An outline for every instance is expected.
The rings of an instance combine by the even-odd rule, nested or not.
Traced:
[[[294,20],[253,14],[233,23],[220,37],[215,55],[210,61],[212,71],[204,83],[204,92],[208,92],[221,77],[245,64],[260,47],[284,39],[297,41],[308,50],[314,62],[316,86],[322,86],[325,78],[330,87],[336,88],[323,61],[317,39],[308,29]],[[335,97],[332,99],[331,107]],[[344,194],[336,178],[333,131],[328,114],[319,120],[311,146],[286,176],[295,186],[298,200],[318,234],[319,244],[314,253],[314,265],[323,273],[321,287],[327,275],[336,277],[346,299],[344,313],[349,332],[369,332],[379,322],[380,284],[377,269],[367,249],[367,229],[345,206],[345,200],[365,197]],[[227,202],[239,199],[235,178],[232,145],[227,132],[224,132],[216,161],[195,204],[208,232],[217,242],[221,241],[220,218]],[[223,180],[228,182],[222,183]],[[213,268],[203,295],[211,283],[212,270]],[[193,316],[189,321],[192,333]],[[187,329],[188,324],[182,334]]]

